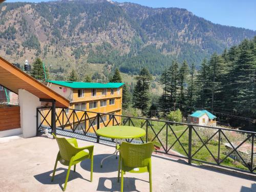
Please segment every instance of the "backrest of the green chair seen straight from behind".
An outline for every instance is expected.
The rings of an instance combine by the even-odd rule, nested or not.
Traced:
[[[123,142],[119,147],[122,164],[127,167],[147,166],[150,162],[153,151],[155,151],[155,149],[152,142],[144,144]]]

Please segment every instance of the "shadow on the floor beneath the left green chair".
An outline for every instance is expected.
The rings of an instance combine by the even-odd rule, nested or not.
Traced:
[[[60,171],[62,171],[62,172],[59,173]],[[34,178],[37,181],[39,181],[40,183],[45,184],[45,185],[47,185],[47,184],[48,185],[49,184],[52,184],[52,185],[58,184],[60,186],[60,188],[63,189],[62,185],[64,186],[65,179],[66,179],[66,176],[67,176],[67,172],[68,172],[67,168],[62,168],[62,167],[57,168],[53,182],[51,182],[53,170],[50,170],[49,172],[45,172],[45,173],[42,173],[42,174],[34,175]],[[84,179],[79,173],[73,172],[73,170],[70,170],[69,181],[77,179],[77,178],[81,178],[83,180],[86,180],[86,181],[90,182],[90,180]]]

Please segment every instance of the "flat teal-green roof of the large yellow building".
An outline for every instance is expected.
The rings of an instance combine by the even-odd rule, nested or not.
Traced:
[[[72,89],[107,89],[107,88],[120,88],[124,83],[122,82],[73,82],[73,81],[48,81],[59,86],[68,87]]]

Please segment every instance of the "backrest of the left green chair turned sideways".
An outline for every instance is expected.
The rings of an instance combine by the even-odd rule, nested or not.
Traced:
[[[76,148],[68,142],[66,138],[60,138],[53,135],[58,143],[59,146],[59,153],[62,159],[66,161],[70,161],[71,157],[73,157],[77,150]]]

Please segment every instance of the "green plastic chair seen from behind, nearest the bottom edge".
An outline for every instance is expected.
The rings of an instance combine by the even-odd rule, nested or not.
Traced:
[[[144,144],[131,144],[127,142],[121,143],[118,147],[120,158],[118,163],[118,182],[120,178],[121,165],[121,192],[123,191],[123,174],[145,173],[150,176],[150,191],[152,192],[152,171],[151,171],[151,155],[155,151],[152,142]]]

